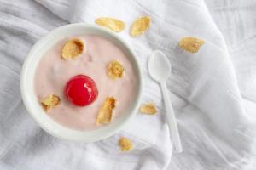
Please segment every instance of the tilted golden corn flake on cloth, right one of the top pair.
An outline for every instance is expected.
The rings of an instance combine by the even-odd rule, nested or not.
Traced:
[[[150,26],[150,17],[144,16],[137,19],[131,27],[131,36],[137,37],[147,31]]]

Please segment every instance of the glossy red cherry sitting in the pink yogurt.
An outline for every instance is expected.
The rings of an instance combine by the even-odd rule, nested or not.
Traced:
[[[78,75],[67,82],[65,94],[74,105],[85,106],[96,100],[98,90],[90,77]]]

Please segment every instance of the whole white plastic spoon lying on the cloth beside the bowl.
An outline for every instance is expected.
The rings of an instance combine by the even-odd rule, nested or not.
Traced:
[[[166,119],[169,124],[169,129],[172,137],[172,141],[177,153],[183,151],[182,144],[180,142],[180,137],[177,129],[177,122],[172,109],[172,103],[168,95],[168,90],[166,88],[166,81],[171,74],[172,68],[170,61],[167,59],[166,55],[160,50],[155,50],[150,56],[148,61],[148,71],[150,76],[160,83],[162,94],[164,97],[164,102],[166,106]]]

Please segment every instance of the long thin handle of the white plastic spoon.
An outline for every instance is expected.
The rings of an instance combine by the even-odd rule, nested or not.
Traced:
[[[164,102],[166,106],[166,119],[169,124],[172,141],[177,153],[181,153],[183,151],[183,147],[180,142],[180,137],[177,129],[177,122],[176,122],[175,114],[172,108],[171,99],[168,95],[168,90],[166,88],[166,82],[161,82],[160,86],[162,89],[162,94],[163,94]]]

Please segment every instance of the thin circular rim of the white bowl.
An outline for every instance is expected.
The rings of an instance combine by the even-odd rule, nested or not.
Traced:
[[[38,48],[42,47],[42,44],[44,44],[44,42],[46,42],[49,39],[49,37],[54,37],[57,32],[64,31],[65,29],[72,29],[72,28],[78,28],[78,27],[83,27],[84,29],[93,29],[93,30],[97,30],[97,31],[102,31],[103,34],[106,34],[110,37],[117,39],[119,42],[122,42],[124,47],[131,54],[131,57],[135,61],[134,64],[137,67],[137,80],[138,80],[137,101],[136,101],[134,107],[131,108],[131,112],[130,112],[129,116],[127,116],[121,124],[116,125],[116,127],[113,128],[108,133],[102,133],[101,136],[98,135],[97,137],[92,135],[90,138],[87,138],[87,139],[79,138],[79,137],[73,138],[71,136],[65,135],[65,133],[60,133],[60,132],[56,133],[53,129],[50,129],[49,126],[46,125],[46,122],[42,122],[38,119],[38,116],[37,116],[38,113],[35,113],[37,111],[34,111],[34,109],[32,108],[32,105],[29,104],[29,98],[31,98],[31,96],[29,96],[29,94],[26,93],[26,84],[27,84],[26,74],[27,74],[27,71],[29,71],[29,65],[31,64],[33,54],[36,53]],[[59,27],[55,28],[54,30],[49,31],[49,33],[46,36],[40,38],[38,40],[38,42],[36,42],[32,46],[31,50],[27,54],[26,59],[22,65],[22,70],[21,70],[21,74],[20,74],[20,93],[21,93],[21,98],[23,100],[23,103],[26,107],[27,112],[38,123],[38,125],[44,129],[45,132],[47,132],[47,133],[51,134],[52,136],[55,136],[59,139],[67,139],[67,140],[84,142],[84,143],[96,142],[98,140],[107,139],[108,137],[112,136],[114,133],[118,133],[123,127],[125,127],[127,122],[129,122],[131,120],[131,118],[133,116],[135,116],[135,114],[137,113],[137,110],[138,110],[138,107],[142,100],[142,95],[143,95],[143,71],[142,71],[142,68],[137,59],[137,54],[131,48],[129,43],[125,42],[125,40],[122,37],[119,37],[115,32],[110,31],[107,28],[104,28],[101,26],[96,26],[96,25],[91,25],[91,24],[85,24],[85,23],[68,24],[68,25],[64,25],[64,26],[59,26]]]

